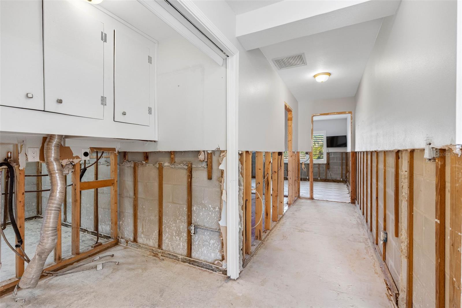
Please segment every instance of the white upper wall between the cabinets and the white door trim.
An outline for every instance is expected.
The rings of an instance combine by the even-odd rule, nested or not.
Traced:
[[[226,149],[226,64],[175,35],[158,49],[159,151]]]

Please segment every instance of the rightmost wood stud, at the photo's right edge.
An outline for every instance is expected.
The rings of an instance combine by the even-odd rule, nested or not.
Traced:
[[[461,307],[462,156],[450,156],[449,307]]]

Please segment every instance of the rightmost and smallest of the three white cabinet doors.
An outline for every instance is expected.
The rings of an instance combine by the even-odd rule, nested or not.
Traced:
[[[155,66],[155,45],[125,26],[116,29],[115,37],[114,120],[149,125],[148,107],[154,83],[150,72]]]

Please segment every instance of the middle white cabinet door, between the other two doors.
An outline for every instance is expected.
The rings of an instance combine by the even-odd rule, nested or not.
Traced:
[[[43,1],[45,111],[102,119],[104,26],[84,1]]]

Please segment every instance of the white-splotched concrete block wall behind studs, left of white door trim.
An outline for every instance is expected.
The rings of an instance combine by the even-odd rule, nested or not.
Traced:
[[[138,166],[138,242],[158,247],[158,162],[164,164],[163,250],[186,255],[187,250],[187,166],[192,162],[192,235],[191,257],[208,263],[221,261],[221,171],[220,151],[213,152],[212,179],[207,179],[207,162],[198,159],[198,151],[150,152],[147,164]],[[128,161],[119,166],[119,236],[133,240],[133,161],[141,153],[128,153]],[[200,227],[205,227],[200,228]],[[212,229],[212,230],[210,230]]]

